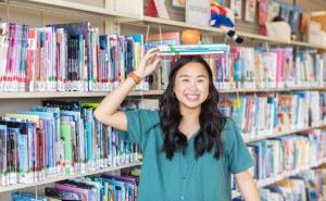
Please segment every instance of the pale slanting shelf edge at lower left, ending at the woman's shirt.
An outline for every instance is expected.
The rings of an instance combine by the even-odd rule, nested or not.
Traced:
[[[0,193],[1,192],[13,191],[13,190],[20,190],[20,189],[24,189],[24,188],[28,188],[28,187],[36,187],[36,186],[40,186],[40,185],[47,185],[47,184],[51,184],[51,183],[55,183],[55,181],[60,181],[60,180],[65,180],[65,179],[85,177],[85,176],[89,176],[89,175],[97,175],[97,174],[101,174],[101,173],[118,171],[118,169],[122,169],[122,168],[135,167],[135,166],[139,166],[139,165],[141,165],[141,162],[134,162],[134,163],[128,163],[128,164],[125,164],[125,165],[110,166],[110,167],[105,167],[105,168],[98,169],[98,171],[90,171],[90,172],[83,173],[83,174],[57,176],[57,177],[53,177],[53,178],[48,178],[48,179],[45,179],[42,181],[33,183],[33,184],[16,184],[16,185],[10,185],[10,186],[0,186]]]

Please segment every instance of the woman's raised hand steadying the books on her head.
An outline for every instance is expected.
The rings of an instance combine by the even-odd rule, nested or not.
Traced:
[[[141,59],[138,68],[135,71],[141,79],[153,73],[153,71],[158,67],[158,64],[161,61],[161,58],[158,56],[158,51],[159,48],[152,48],[148,50]]]

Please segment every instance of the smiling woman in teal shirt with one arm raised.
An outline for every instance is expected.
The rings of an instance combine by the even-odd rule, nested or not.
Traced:
[[[95,111],[99,121],[125,130],[142,150],[138,201],[229,201],[230,174],[247,201],[260,200],[247,172],[252,159],[234,123],[217,110],[218,93],[202,58],[176,62],[159,111],[117,111],[136,84],[155,70],[156,52],[148,51],[138,70]]]

